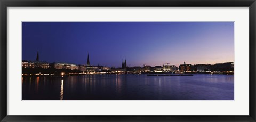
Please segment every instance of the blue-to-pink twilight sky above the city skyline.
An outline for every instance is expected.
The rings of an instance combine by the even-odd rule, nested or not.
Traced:
[[[234,62],[234,22],[22,22],[22,60],[121,67]]]

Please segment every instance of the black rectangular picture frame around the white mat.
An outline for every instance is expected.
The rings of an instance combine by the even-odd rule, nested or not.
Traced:
[[[1,121],[255,121],[255,0],[0,0],[1,4]],[[7,114],[7,7],[111,6],[111,7],[250,7],[250,115],[249,116],[10,116]]]

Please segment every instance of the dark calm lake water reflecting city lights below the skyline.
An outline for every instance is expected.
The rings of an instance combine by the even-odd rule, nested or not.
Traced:
[[[234,75],[26,76],[22,100],[234,100]]]

